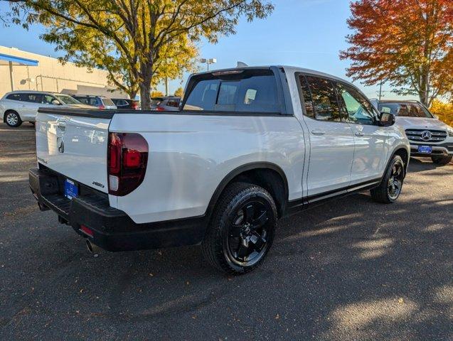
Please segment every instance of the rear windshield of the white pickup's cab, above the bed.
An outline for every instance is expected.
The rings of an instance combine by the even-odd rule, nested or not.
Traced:
[[[279,112],[277,83],[271,70],[243,70],[233,75],[195,76],[183,110]]]

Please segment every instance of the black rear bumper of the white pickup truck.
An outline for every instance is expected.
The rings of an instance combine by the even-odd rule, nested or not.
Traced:
[[[64,177],[58,173],[35,168],[29,171],[28,179],[41,210],[53,210],[60,222],[102,249],[160,249],[200,244],[203,240],[206,217],[137,224],[123,211],[110,207],[105,193],[81,188],[80,196],[69,200],[62,194]],[[82,225],[92,231],[92,236],[82,232]]]

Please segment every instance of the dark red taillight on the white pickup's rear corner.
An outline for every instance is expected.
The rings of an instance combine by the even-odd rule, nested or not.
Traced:
[[[109,193],[123,196],[142,183],[148,163],[148,143],[140,134],[110,133],[107,151]]]

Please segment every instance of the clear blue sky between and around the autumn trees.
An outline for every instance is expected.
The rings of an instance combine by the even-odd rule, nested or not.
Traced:
[[[9,6],[1,1],[0,11]],[[346,78],[347,60],[339,60],[339,50],[347,48],[345,36],[350,33],[346,18],[350,15],[348,0],[273,0],[275,11],[264,20],[248,23],[241,20],[235,36],[221,37],[216,45],[198,43],[200,56],[217,58],[215,68],[235,67],[238,60],[248,65],[294,65]],[[43,27],[31,26],[29,31],[20,26],[0,26],[0,45],[14,46],[42,55],[58,57],[53,45],[39,39]],[[206,65],[200,65],[205,70]],[[174,92],[181,83],[170,83]],[[377,97],[378,86],[356,85],[368,97]],[[162,90],[163,87],[159,87]],[[390,90],[384,86],[383,90]],[[384,92],[385,98],[396,97]]]

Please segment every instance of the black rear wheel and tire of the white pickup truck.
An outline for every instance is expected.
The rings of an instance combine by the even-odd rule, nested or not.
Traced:
[[[245,274],[265,258],[274,240],[277,206],[264,188],[228,185],[220,196],[203,240],[203,256],[229,274]]]

